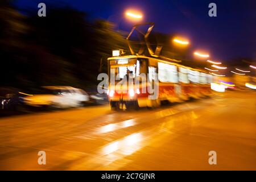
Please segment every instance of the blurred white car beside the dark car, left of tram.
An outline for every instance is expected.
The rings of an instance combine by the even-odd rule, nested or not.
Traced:
[[[71,86],[43,86],[38,94],[24,98],[24,102],[30,106],[56,108],[79,107],[89,100],[84,90]]]

